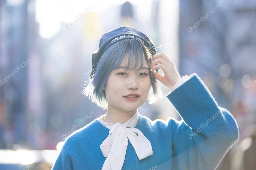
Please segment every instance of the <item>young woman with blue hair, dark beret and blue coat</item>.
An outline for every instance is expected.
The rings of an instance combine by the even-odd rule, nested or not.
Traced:
[[[166,98],[181,121],[138,113],[161,93],[156,80],[171,89]],[[234,117],[197,74],[180,77],[173,62],[132,27],[103,34],[83,94],[106,114],[67,137],[54,170],[215,169],[239,138]]]

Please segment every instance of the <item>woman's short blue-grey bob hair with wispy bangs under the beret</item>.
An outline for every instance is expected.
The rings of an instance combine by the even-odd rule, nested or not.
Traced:
[[[142,42],[135,38],[124,39],[114,43],[109,48],[107,48],[101,56],[97,64],[95,74],[93,78],[89,77],[90,80],[87,81],[87,83],[89,83],[88,86],[86,86],[87,83],[84,84],[84,90],[82,91],[82,94],[86,95],[86,97],[89,96],[89,99],[91,98],[92,103],[95,103],[103,110],[107,109],[108,101],[106,99],[105,90],[103,90],[103,88],[108,80],[110,72],[120,66],[124,56],[126,56],[128,53],[124,61],[126,63],[126,60],[128,59],[128,64],[125,66],[126,69],[135,69],[138,65],[138,61],[141,61],[139,70],[143,69],[143,57],[145,56],[147,66],[149,67],[149,75],[151,80],[150,91],[151,88],[153,90],[153,94],[148,98],[148,104],[155,103],[156,97],[162,98],[163,94],[160,90],[160,86],[158,86],[154,72],[150,68],[150,59],[152,58],[151,50],[153,48],[146,47]],[[131,68],[134,61],[134,67]]]

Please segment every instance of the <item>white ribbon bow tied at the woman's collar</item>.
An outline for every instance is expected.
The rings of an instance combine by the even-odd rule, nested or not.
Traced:
[[[153,154],[150,141],[139,129],[126,128],[123,124],[117,122],[109,130],[109,136],[100,145],[103,156],[107,157],[102,170],[122,169],[128,145],[127,138],[140,160]]]

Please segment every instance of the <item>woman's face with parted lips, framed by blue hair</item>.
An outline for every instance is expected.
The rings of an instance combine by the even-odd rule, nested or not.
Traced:
[[[124,66],[123,58],[119,67]],[[126,64],[127,64],[126,60]],[[106,92],[106,98],[108,104],[117,109],[125,111],[133,111],[141,107],[148,98],[149,90],[151,86],[150,76],[147,64],[147,61],[144,56],[143,66],[146,69],[141,69],[136,71],[140,67],[140,62],[137,65],[137,68],[134,70],[125,70],[125,68],[118,68],[112,70],[109,74],[108,80],[105,87],[103,88]],[[133,68],[132,66],[131,68]],[[139,97],[126,98],[131,93],[136,93]]]

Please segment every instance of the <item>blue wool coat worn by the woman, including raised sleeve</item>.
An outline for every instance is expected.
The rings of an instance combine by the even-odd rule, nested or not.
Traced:
[[[153,155],[139,160],[128,140],[122,169],[215,169],[239,138],[232,114],[218,106],[196,73],[166,97],[181,121],[139,114],[134,128],[151,142]],[[106,158],[100,145],[108,135],[109,129],[93,120],[65,140],[52,169],[101,169]]]

